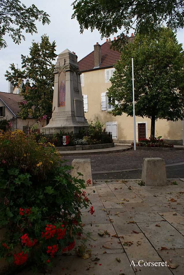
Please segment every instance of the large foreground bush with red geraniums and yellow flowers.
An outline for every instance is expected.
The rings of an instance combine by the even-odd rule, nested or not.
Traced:
[[[80,209],[90,202],[69,169],[51,143],[37,144],[22,131],[0,134],[0,257],[18,266],[30,257],[45,270],[58,252],[74,248]]]

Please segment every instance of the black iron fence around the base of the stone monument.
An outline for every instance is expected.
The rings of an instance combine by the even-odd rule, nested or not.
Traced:
[[[65,138],[66,137],[66,138]],[[92,145],[92,144],[105,144],[112,143],[112,133],[103,132],[95,133],[93,135],[88,134],[36,134],[37,142],[50,142],[56,147],[61,146],[75,146],[75,145]],[[66,145],[63,144],[63,141],[66,142]]]

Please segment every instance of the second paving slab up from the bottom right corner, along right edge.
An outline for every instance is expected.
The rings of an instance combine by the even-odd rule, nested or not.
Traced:
[[[167,221],[139,222],[137,225],[156,250],[184,248],[184,236]]]

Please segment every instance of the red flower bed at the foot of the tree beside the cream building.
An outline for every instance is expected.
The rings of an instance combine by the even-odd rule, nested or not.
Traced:
[[[132,142],[132,146],[134,145],[134,142]],[[173,148],[173,144],[166,144],[164,139],[162,138],[155,138],[155,139],[141,139],[139,142],[136,142],[136,146],[140,147],[154,147],[154,148]]]

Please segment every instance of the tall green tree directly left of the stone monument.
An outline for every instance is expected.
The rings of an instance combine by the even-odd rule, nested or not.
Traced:
[[[21,55],[22,69],[16,69],[11,64],[11,72],[6,71],[5,77],[15,86],[20,85],[21,79],[26,83],[21,89],[21,95],[24,97],[20,102],[22,119],[31,115],[35,119],[41,119],[47,116],[51,118],[53,85],[54,85],[54,64],[56,58],[55,41],[49,42],[49,37],[43,35],[41,43],[32,42],[30,47],[30,56]]]

